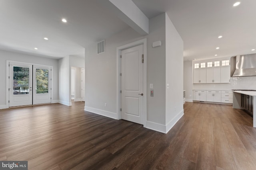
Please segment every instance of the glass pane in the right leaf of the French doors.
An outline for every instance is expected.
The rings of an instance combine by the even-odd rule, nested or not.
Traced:
[[[36,68],[36,94],[48,93],[49,70]]]

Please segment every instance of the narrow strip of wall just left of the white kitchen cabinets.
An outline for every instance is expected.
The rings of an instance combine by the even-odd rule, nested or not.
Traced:
[[[193,62],[184,61],[183,89],[186,90],[186,102],[193,101]]]

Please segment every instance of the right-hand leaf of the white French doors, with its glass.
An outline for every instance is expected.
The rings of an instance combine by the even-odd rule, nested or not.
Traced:
[[[51,68],[33,65],[33,104],[51,103]]]

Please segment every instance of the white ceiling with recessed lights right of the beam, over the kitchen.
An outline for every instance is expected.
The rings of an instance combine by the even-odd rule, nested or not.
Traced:
[[[233,7],[238,1],[241,4]],[[251,51],[256,49],[256,0],[133,2],[148,18],[167,12],[184,41],[184,60],[256,53]],[[219,35],[223,37],[218,39]]]

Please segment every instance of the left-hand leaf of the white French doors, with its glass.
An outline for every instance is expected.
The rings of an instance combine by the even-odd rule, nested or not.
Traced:
[[[32,65],[9,65],[9,107],[32,105]]]

